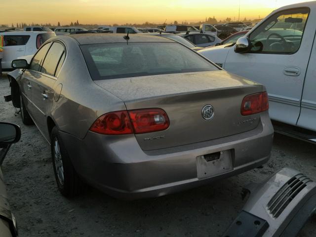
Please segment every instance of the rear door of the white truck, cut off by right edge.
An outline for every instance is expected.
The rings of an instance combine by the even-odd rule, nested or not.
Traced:
[[[315,33],[315,29],[314,29]],[[304,82],[301,114],[297,126],[316,131],[316,39],[311,51],[310,62]]]

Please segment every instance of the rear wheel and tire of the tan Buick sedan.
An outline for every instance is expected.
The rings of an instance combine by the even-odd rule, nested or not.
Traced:
[[[51,131],[50,139],[51,158],[58,189],[65,197],[75,197],[83,191],[84,184],[71,162],[56,126]]]

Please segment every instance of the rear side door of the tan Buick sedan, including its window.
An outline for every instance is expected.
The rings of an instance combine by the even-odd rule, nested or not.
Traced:
[[[37,77],[32,79],[34,121],[46,139],[49,139],[47,111],[53,103],[54,85],[60,69],[58,65],[60,61],[63,61],[63,55],[65,56],[64,45],[53,42],[44,58],[40,72],[37,73]]]

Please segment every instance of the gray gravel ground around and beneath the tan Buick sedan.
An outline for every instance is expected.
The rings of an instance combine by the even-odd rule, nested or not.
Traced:
[[[242,187],[262,181],[282,167],[292,167],[316,180],[316,146],[275,135],[272,158],[262,169],[165,197],[121,201],[93,188],[74,199],[62,197],[55,184],[50,149],[35,125],[14,115],[8,80],[0,78],[0,121],[21,126],[2,165],[9,201],[21,237],[219,237],[245,200]],[[301,237],[316,236],[316,217]]]

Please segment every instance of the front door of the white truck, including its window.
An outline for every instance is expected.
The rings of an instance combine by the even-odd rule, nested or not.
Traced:
[[[314,13],[315,14],[315,13]],[[229,50],[224,69],[264,84],[269,93],[270,117],[296,125],[311,46],[315,18],[310,8],[278,11],[246,36],[251,49]]]

